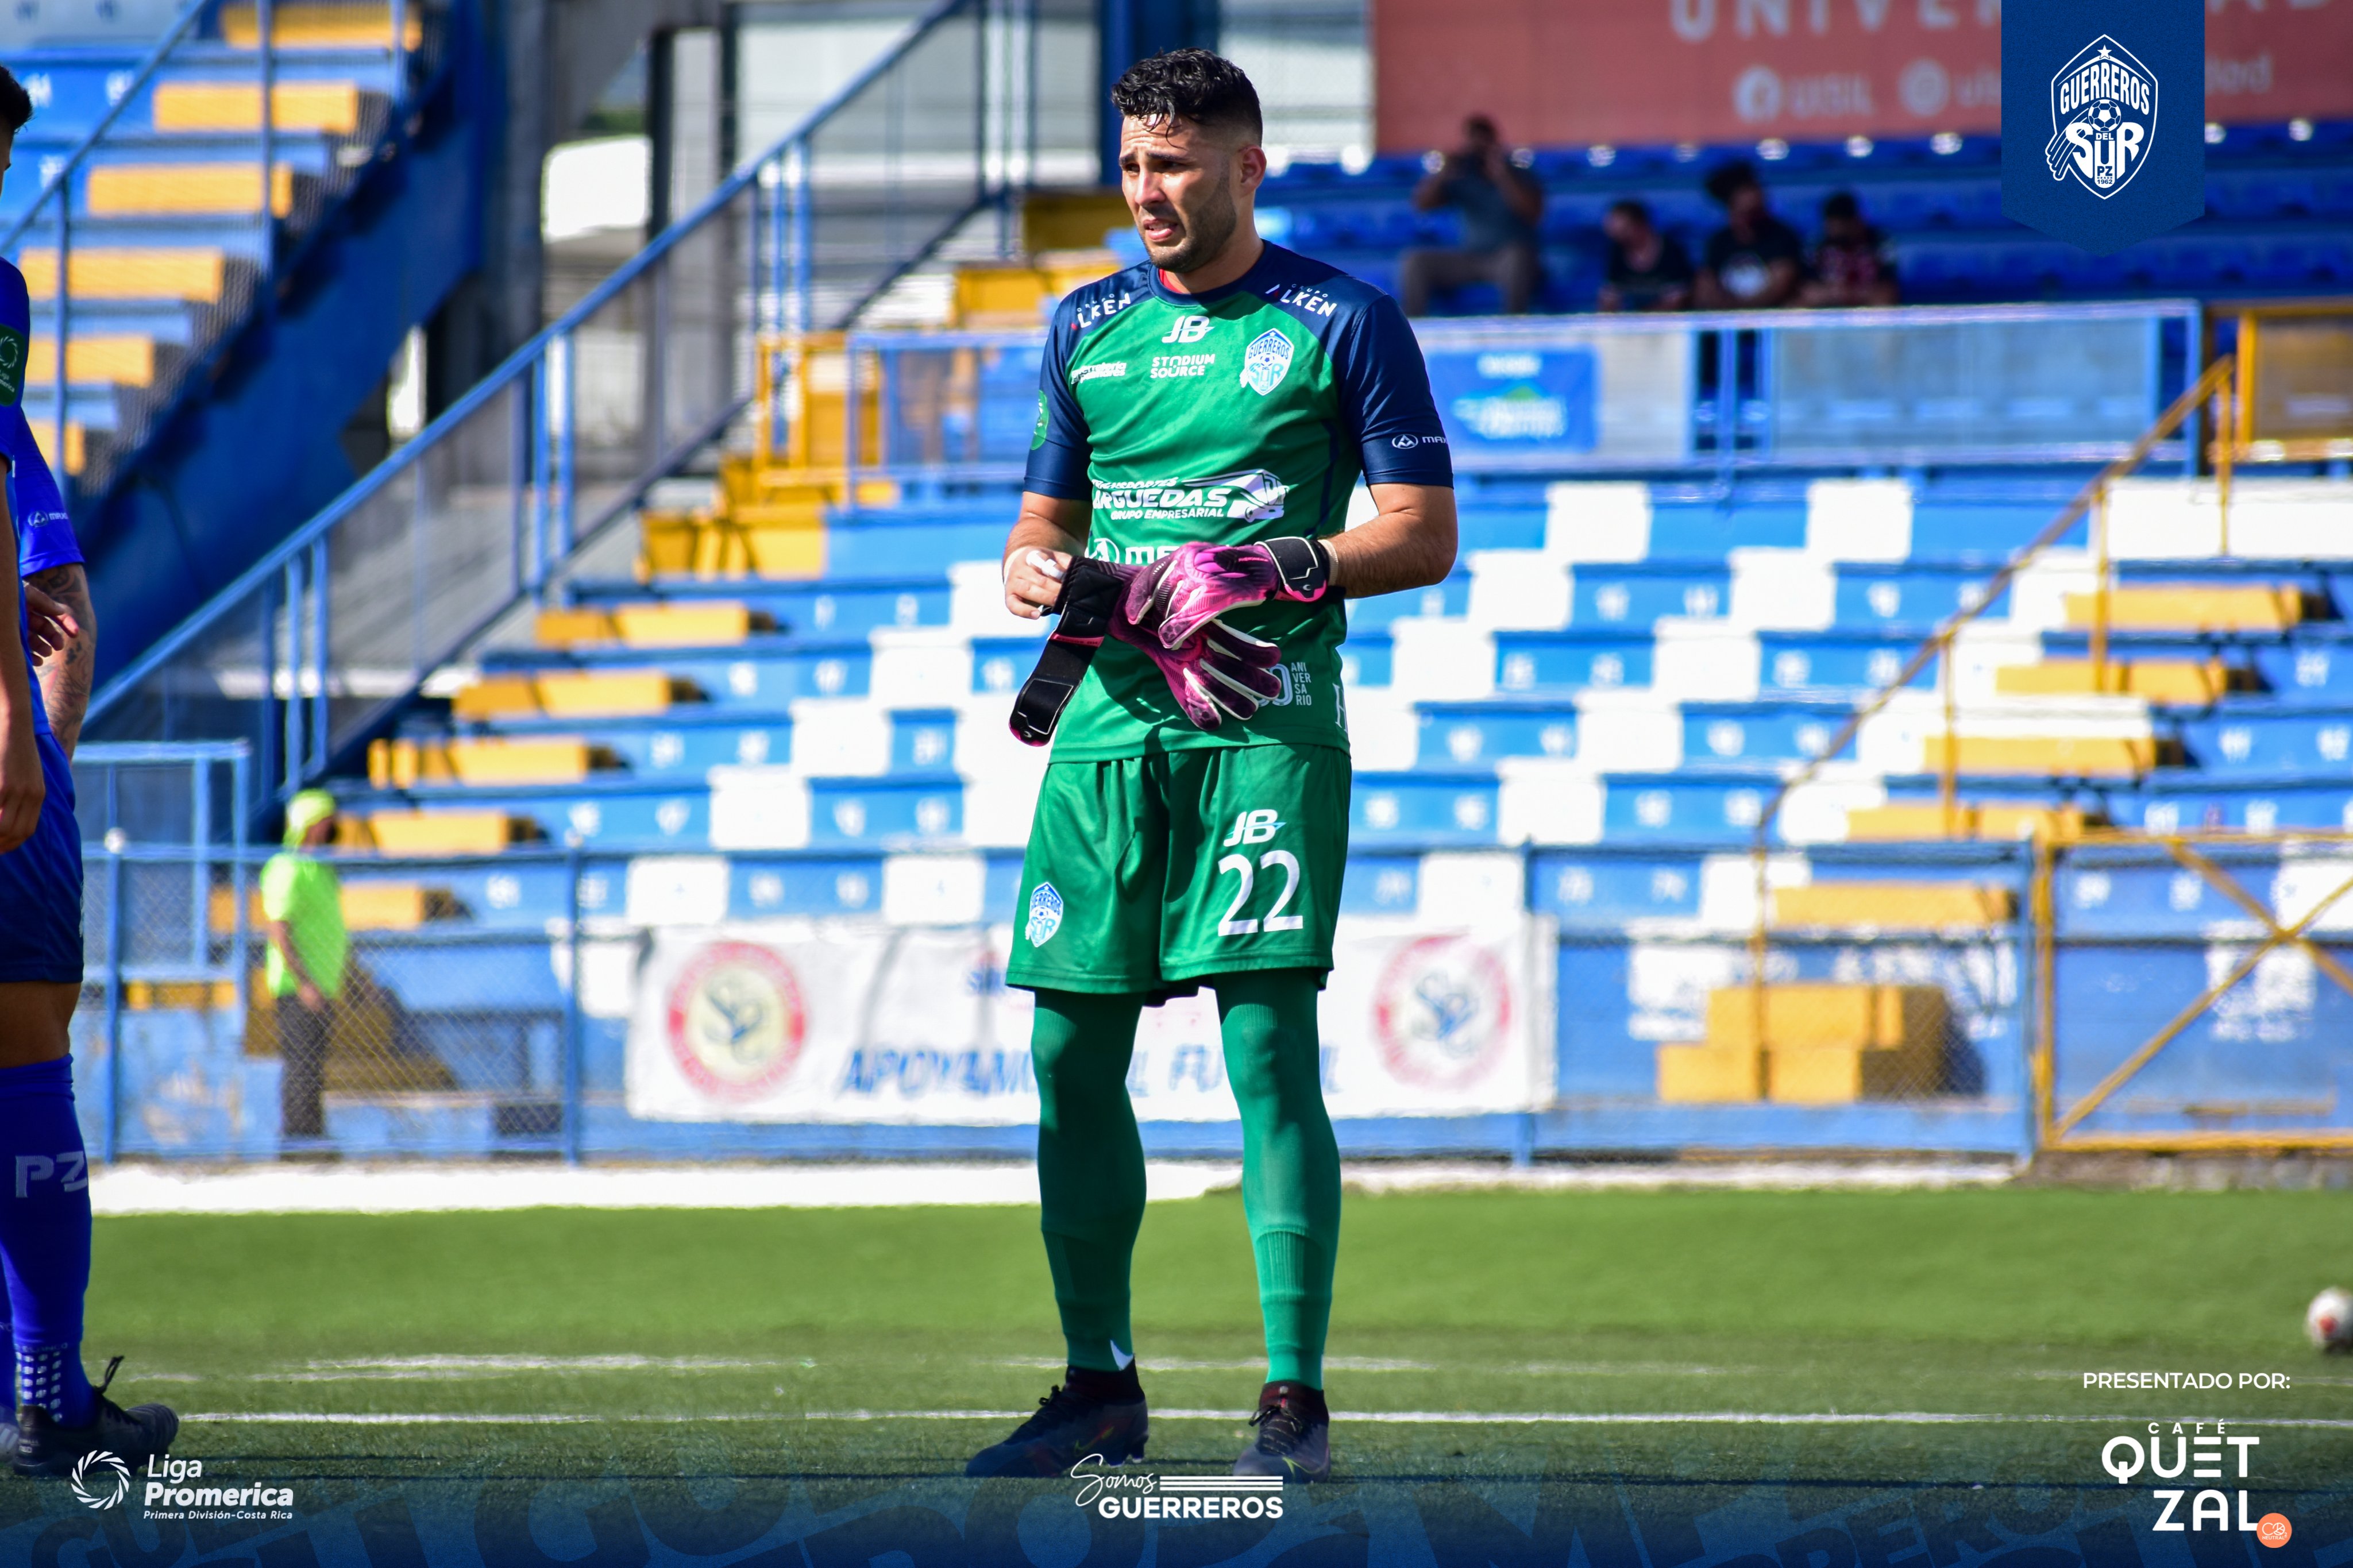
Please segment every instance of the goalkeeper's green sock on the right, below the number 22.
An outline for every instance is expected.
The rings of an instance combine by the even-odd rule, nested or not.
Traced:
[[[1322,1387],[1339,1255],[1339,1143],[1322,1105],[1308,969],[1219,976],[1226,1079],[1242,1107],[1242,1213],[1259,1260],[1266,1380]]]

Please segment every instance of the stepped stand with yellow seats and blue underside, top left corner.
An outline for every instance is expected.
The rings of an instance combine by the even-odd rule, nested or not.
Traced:
[[[266,193],[254,5],[214,7],[129,99],[153,35],[59,7],[42,26],[66,35],[7,49],[35,106],[0,190],[5,226],[38,207],[14,242],[33,299],[24,409],[45,449],[64,414],[49,461],[108,607],[106,670],[355,477],[339,433],[473,268],[485,153],[475,73],[456,66],[478,12],[402,14],[395,54],[386,0],[273,7]],[[59,277],[42,193],[78,150]]]

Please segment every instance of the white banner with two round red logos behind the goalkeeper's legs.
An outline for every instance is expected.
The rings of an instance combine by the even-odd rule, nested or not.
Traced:
[[[1012,929],[760,922],[659,929],[635,976],[628,1110],[656,1121],[1038,1119]],[[1553,940],[1513,914],[1433,931],[1348,917],[1322,994],[1334,1117],[1534,1110],[1553,1086]],[[1233,1121],[1209,994],[1146,1009],[1127,1074],[1146,1121]]]

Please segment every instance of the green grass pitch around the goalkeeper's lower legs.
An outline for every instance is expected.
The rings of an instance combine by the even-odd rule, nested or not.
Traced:
[[[2082,1486],[2122,1418],[2228,1418],[2268,1432],[2266,1486],[2339,1486],[2353,1361],[2301,1338],[2322,1284],[2353,1284],[2353,1194],[1351,1194],[1339,1469]],[[1151,1458],[1221,1469],[1261,1375],[1235,1194],[1151,1208],[1134,1316]],[[99,1222],[87,1352],[188,1413],[174,1453],[322,1481],[854,1486],[960,1474],[1007,1420],[953,1413],[1028,1408],[1059,1335],[1026,1208],[158,1215]],[[2144,1368],[2292,1385],[2082,1387]],[[1694,1420],[1494,1420],[1522,1413]],[[1697,1420],[1833,1413],[1981,1420]],[[348,1420],[398,1415],[464,1420]]]

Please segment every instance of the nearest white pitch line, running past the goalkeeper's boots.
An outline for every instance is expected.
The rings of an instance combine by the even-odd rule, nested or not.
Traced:
[[[191,1422],[318,1425],[318,1427],[586,1427],[586,1425],[692,1425],[692,1422],[795,1422],[795,1420],[1016,1420],[1024,1410],[788,1410],[708,1415],[489,1415],[379,1413],[379,1410],[224,1410],[188,1415]],[[1238,1410],[1153,1410],[1153,1420],[1238,1422]],[[2113,1427],[2144,1420],[2132,1415],[1986,1415],[1972,1410],[1337,1410],[1332,1420],[1372,1427],[2012,1427],[2073,1425]],[[2235,1418],[2249,1427],[2353,1429],[2353,1420],[2329,1418]]]

